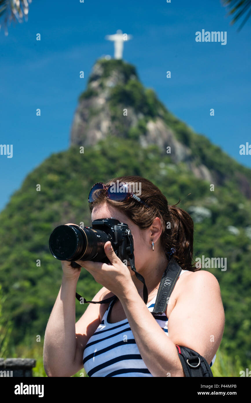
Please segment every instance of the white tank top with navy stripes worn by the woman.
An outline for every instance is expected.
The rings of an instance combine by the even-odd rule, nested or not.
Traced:
[[[183,274],[187,270],[182,270]],[[157,295],[156,295],[157,296]],[[153,311],[156,296],[146,305]],[[109,312],[112,302],[107,308],[101,324],[88,340],[84,349],[83,364],[88,376],[152,376],[142,360],[134,335],[127,319],[109,323]],[[154,316],[156,322],[168,336],[167,316],[165,312]],[[210,367],[214,364],[216,355]]]

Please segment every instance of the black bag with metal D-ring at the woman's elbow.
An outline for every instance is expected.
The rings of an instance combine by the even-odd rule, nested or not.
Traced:
[[[213,377],[208,361],[188,347],[176,345],[185,376]]]

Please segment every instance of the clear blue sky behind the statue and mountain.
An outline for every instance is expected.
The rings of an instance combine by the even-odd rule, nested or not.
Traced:
[[[251,156],[239,154],[240,144],[251,143],[251,23],[237,32],[226,12],[220,0],[33,0],[27,22],[12,23],[8,36],[0,31],[0,144],[13,145],[12,158],[0,156],[0,210],[31,170],[69,147],[78,96],[97,58],[113,56],[105,35],[117,29],[133,35],[123,59],[142,83],[197,133],[251,167]],[[195,42],[202,29],[226,31],[226,45]]]

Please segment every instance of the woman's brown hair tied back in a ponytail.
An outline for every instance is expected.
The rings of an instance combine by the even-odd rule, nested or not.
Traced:
[[[92,212],[97,204],[107,202],[122,211],[142,230],[148,229],[152,225],[154,218],[159,217],[162,224],[160,246],[165,251],[167,258],[171,248],[175,248],[174,257],[181,268],[193,272],[197,271],[198,269],[192,264],[193,220],[191,216],[182,208],[176,207],[176,204],[169,206],[166,197],[161,193],[160,189],[151,181],[148,181],[148,179],[140,176],[124,176],[113,178],[105,183],[105,185],[116,184],[117,180],[126,183],[141,183],[140,199],[146,202],[150,208],[142,205],[132,197],[123,202],[115,202],[107,199],[105,192],[100,192],[95,197],[95,201],[90,203],[90,211]]]

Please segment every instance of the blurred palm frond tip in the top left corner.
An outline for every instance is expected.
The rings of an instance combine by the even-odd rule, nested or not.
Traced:
[[[8,25],[12,21],[14,23],[23,22],[23,19],[27,21],[29,12],[29,3],[31,0],[0,0],[0,29],[3,26],[5,35],[8,35]]]

